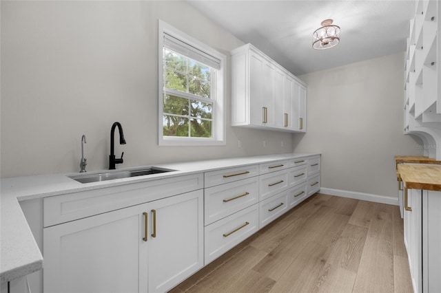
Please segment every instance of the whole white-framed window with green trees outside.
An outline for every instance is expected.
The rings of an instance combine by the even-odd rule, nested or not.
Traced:
[[[225,144],[225,55],[159,21],[159,144]]]

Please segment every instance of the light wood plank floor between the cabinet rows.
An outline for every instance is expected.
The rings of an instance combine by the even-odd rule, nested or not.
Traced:
[[[412,292],[400,210],[317,193],[172,292]]]

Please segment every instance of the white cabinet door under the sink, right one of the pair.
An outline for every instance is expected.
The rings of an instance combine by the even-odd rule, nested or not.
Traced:
[[[203,191],[149,203],[149,292],[165,292],[203,267]]]

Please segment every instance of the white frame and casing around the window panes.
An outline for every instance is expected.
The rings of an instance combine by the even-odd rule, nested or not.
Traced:
[[[164,34],[173,36],[174,38],[196,47],[215,58],[220,60],[220,69],[216,71],[214,80],[214,88],[210,88],[213,93],[213,113],[212,113],[212,138],[192,138],[192,137],[176,137],[163,135],[163,94],[164,94],[164,65],[163,65],[163,46]],[[191,57],[190,57],[191,58]],[[210,146],[225,145],[225,82],[226,78],[226,61],[227,56],[214,50],[212,47],[201,43],[180,30],[172,27],[168,23],[158,21],[158,145],[160,146]]]

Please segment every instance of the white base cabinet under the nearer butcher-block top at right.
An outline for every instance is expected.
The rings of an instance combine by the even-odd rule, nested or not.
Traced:
[[[404,245],[414,292],[441,292],[441,192],[404,188]]]

